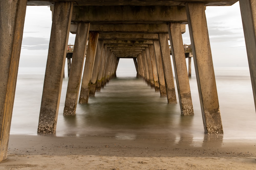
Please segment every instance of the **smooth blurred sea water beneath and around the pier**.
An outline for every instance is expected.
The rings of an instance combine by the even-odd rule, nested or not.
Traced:
[[[11,134],[37,135],[44,73],[45,68],[19,68]],[[223,139],[255,140],[256,113],[249,69],[215,68],[215,74]],[[56,136],[205,138],[194,72],[189,80],[194,116],[181,116],[179,104],[168,104],[159,92],[136,79],[135,68],[118,68],[117,76],[89,98],[88,104],[78,104],[76,116],[71,117],[62,115],[68,84],[68,78],[63,79]]]

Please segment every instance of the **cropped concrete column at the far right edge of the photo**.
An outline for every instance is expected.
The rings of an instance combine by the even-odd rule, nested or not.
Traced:
[[[240,0],[239,3],[256,109],[256,4],[252,0]]]

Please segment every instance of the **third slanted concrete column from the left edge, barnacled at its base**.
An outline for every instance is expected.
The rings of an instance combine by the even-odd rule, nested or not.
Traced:
[[[75,115],[90,23],[78,23],[63,115]]]

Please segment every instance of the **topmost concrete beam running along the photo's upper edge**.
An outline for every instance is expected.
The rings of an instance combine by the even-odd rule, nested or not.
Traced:
[[[107,6],[107,5],[164,5],[164,6],[185,6],[186,1],[184,0],[66,0],[74,2],[74,5],[79,6]],[[37,6],[51,6],[54,5],[56,0],[27,0],[27,5]],[[188,2],[188,0],[187,0]],[[189,0],[189,2],[204,2],[205,6],[229,6],[233,5],[237,1],[234,0]]]

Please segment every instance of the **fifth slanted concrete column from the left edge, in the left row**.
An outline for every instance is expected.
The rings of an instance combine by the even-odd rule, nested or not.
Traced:
[[[89,96],[95,96],[104,40],[99,40],[96,49]]]

